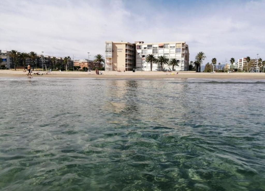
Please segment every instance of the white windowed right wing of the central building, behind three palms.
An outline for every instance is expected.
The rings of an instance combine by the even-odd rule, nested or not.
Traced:
[[[189,69],[189,47],[185,42],[160,42],[144,43],[135,42],[136,46],[136,69],[151,71],[151,63],[147,63],[145,58],[149,54],[155,57],[165,56],[167,59],[175,58],[179,66],[175,66],[175,71],[187,71]],[[172,71],[172,67],[165,64],[164,71]],[[160,66],[152,63],[152,71],[160,71]]]

